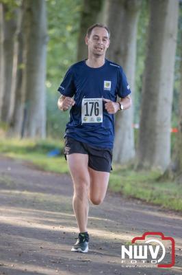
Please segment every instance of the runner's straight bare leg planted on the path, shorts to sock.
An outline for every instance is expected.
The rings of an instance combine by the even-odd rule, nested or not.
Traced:
[[[67,155],[70,174],[73,179],[73,210],[77,219],[79,232],[87,232],[88,223],[88,190],[90,175],[88,173],[88,155],[73,153]]]

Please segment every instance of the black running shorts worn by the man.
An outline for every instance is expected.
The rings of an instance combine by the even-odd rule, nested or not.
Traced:
[[[81,153],[88,155],[88,166],[96,171],[110,172],[112,170],[112,149],[91,147],[87,143],[65,137],[64,155]]]

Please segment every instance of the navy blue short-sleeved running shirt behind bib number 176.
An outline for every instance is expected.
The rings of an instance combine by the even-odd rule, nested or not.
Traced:
[[[86,65],[86,61],[81,61],[68,69],[58,91],[64,96],[74,96],[75,100],[75,105],[70,109],[70,121],[66,124],[64,137],[72,137],[93,147],[113,148],[114,115],[107,113],[105,102],[101,103],[100,98],[116,102],[117,96],[125,98],[131,93],[122,67],[105,60],[102,67],[92,68]],[[88,98],[90,102],[85,102]],[[86,116],[82,119],[83,105]],[[88,118],[90,123],[86,123]],[[97,123],[92,122],[94,120]],[[103,121],[100,122],[101,120]]]

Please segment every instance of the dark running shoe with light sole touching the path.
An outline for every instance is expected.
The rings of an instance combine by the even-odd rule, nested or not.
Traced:
[[[75,245],[73,245],[73,248],[71,249],[71,251],[82,252],[82,253],[88,252],[88,241],[89,241],[88,233],[84,233],[84,234],[79,233],[77,241]]]

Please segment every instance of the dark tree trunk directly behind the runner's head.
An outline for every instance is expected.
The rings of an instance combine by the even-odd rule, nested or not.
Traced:
[[[84,0],[83,8],[81,11],[81,21],[80,21],[80,30],[79,30],[79,38],[77,43],[77,60],[81,61],[84,58],[88,57],[88,47],[86,46],[85,37],[86,32],[90,25],[94,23],[98,23],[98,14],[101,12],[101,8],[103,5],[103,0]],[[101,23],[99,21],[99,23]]]

